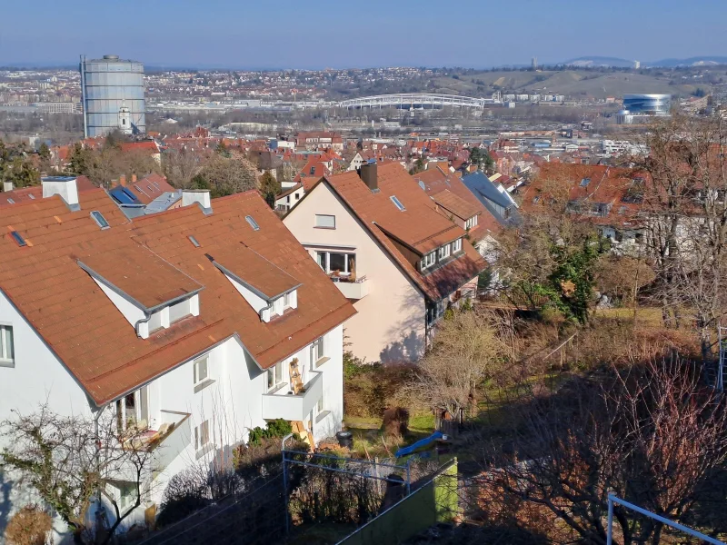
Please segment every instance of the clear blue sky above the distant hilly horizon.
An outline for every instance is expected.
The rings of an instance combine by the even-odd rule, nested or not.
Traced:
[[[724,0],[34,0],[4,3],[0,65],[119,54],[234,68],[541,64],[727,55]]]

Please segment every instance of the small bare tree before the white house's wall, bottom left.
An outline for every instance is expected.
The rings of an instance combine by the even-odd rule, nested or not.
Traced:
[[[91,530],[86,522],[92,505],[100,523],[95,542],[105,544],[149,491],[154,445],[144,429],[121,426],[111,411],[96,418],[62,416],[44,405],[32,414],[16,412],[0,426],[8,445],[0,454],[5,469],[35,489],[73,531],[76,543]],[[134,488],[134,500],[124,508],[107,490],[118,481]]]

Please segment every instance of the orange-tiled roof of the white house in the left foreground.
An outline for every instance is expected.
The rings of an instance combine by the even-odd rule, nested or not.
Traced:
[[[133,221],[126,219],[104,190],[80,193],[79,198],[81,210],[77,212],[70,212],[59,196],[0,208],[0,223],[12,226],[30,242],[20,247],[9,230],[3,229],[0,291],[97,405],[134,391],[231,337],[239,338],[254,361],[266,369],[355,313],[255,191],[215,199],[210,215],[199,206],[186,206]],[[90,211],[103,213],[109,228],[100,229]],[[244,220],[246,215],[254,217],[257,231]],[[182,286],[181,276],[174,274],[172,287],[177,292],[204,286],[199,292],[199,316],[174,322],[142,339],[77,263],[100,261],[106,275],[115,275],[115,281],[122,282],[118,275],[130,263],[122,257],[115,262],[118,272],[108,272],[111,262],[106,263],[103,254],[134,245],[154,254],[154,262],[162,260],[191,279],[189,286]],[[301,282],[295,312],[262,322],[204,255],[234,253],[244,245]],[[146,272],[140,271],[136,277],[141,279]],[[262,270],[245,274],[249,274],[249,282],[264,282]],[[157,287],[139,297],[144,301],[146,297],[152,301],[154,296],[164,298],[161,292],[152,293],[164,289]]]

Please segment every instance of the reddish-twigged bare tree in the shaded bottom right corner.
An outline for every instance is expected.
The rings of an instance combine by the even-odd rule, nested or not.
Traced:
[[[726,408],[677,359],[612,369],[513,404],[512,448],[479,445],[480,507],[491,521],[560,543],[606,542],[609,492],[689,523],[727,460]],[[661,523],[619,506],[614,523],[624,545],[662,539]]]

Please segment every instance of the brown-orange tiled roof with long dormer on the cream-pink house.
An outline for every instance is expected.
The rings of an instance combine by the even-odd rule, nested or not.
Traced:
[[[379,164],[377,170],[379,191],[375,193],[354,172],[326,176],[319,183],[326,183],[338,194],[349,211],[430,301],[442,300],[487,267],[472,244],[463,240],[462,256],[434,272],[419,272],[404,255],[403,248],[421,256],[466,233],[436,212],[432,199],[401,164]],[[394,205],[393,196],[403,203],[404,211]],[[296,206],[290,213],[298,208]]]

